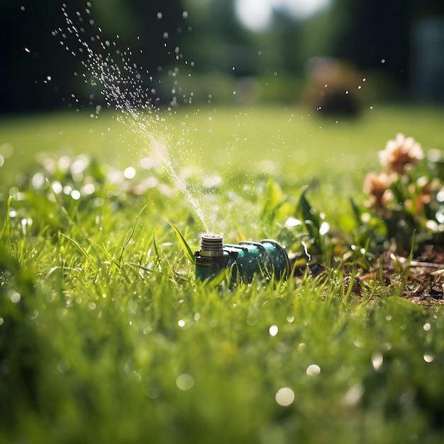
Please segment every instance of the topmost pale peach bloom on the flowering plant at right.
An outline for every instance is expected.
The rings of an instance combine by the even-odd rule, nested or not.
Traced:
[[[421,145],[414,138],[406,138],[404,134],[396,134],[395,140],[389,140],[385,150],[379,151],[379,162],[389,172],[406,172],[406,165],[423,159]]]

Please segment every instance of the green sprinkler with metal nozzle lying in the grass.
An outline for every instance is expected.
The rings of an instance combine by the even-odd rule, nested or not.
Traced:
[[[205,281],[231,268],[232,282],[251,282],[255,275],[270,280],[289,277],[287,251],[275,240],[224,244],[220,235],[203,235],[196,257],[196,279]]]

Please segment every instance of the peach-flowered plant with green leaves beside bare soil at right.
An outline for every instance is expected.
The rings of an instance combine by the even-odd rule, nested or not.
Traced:
[[[433,156],[428,156],[426,162],[421,145],[402,133],[389,140],[378,154],[382,171],[369,172],[363,190],[372,218],[379,218],[384,225],[384,237],[405,243],[414,232],[444,232],[440,162]]]

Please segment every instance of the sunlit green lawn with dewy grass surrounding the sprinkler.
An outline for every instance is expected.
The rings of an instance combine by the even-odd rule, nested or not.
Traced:
[[[196,282],[167,220],[193,249],[197,208],[226,241],[291,250],[309,184],[350,248],[377,151],[398,132],[443,150],[444,110],[163,117],[171,171],[108,113],[1,118],[0,443],[442,443],[443,306],[401,279],[347,292],[333,240],[323,279]]]

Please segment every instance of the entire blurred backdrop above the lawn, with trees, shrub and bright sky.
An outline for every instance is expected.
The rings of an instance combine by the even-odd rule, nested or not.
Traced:
[[[371,101],[444,101],[440,0],[65,4],[70,17],[90,11],[87,41],[102,31],[102,40],[131,48],[161,104],[192,96],[194,104],[302,103],[350,114]],[[67,28],[61,8],[60,0],[1,1],[1,113],[100,103],[100,91],[82,77],[82,57],[52,35]],[[75,49],[70,35],[66,43]]]

